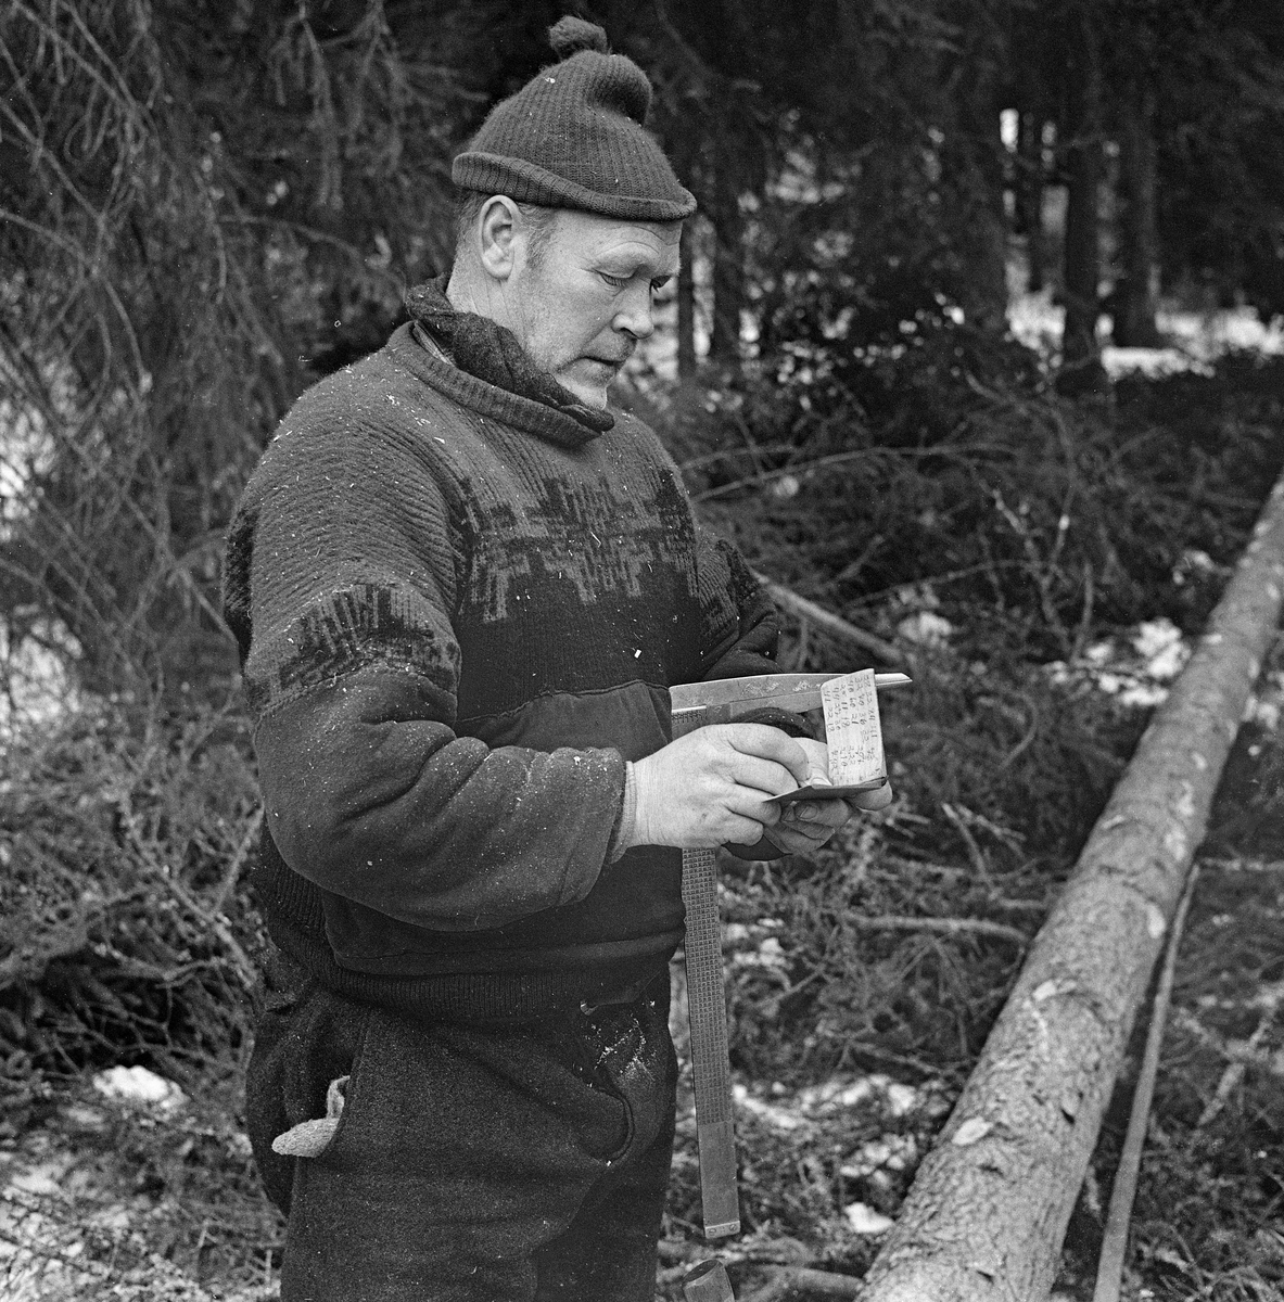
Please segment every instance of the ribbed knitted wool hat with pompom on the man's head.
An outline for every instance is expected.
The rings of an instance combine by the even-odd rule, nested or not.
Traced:
[[[561,62],[491,111],[454,159],[454,184],[626,221],[689,217],[695,198],[643,126],[646,73],[607,53],[607,34],[570,14],[548,29],[548,43]]]

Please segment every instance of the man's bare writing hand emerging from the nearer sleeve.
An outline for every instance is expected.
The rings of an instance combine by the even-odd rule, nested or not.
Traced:
[[[767,805],[806,783],[807,754],[767,724],[711,724],[634,762],[637,805],[628,846],[753,845],[780,820]]]

